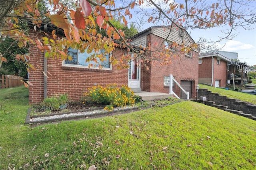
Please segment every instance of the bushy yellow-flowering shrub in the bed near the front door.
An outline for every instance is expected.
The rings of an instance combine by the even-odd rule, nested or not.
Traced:
[[[134,92],[126,85],[122,85],[121,88],[118,88],[117,84],[109,84],[106,87],[98,85],[88,90],[89,92],[84,93],[84,102],[105,104],[106,110],[133,105],[135,102]]]

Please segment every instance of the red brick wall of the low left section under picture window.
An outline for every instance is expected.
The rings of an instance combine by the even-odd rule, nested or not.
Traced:
[[[41,39],[42,33],[30,31],[30,37]],[[121,57],[124,51],[116,49],[114,55]],[[39,69],[44,68],[44,54],[37,47],[30,47],[30,64],[36,67],[36,70],[30,69],[29,81],[33,86],[29,87],[29,104],[42,102],[44,99],[44,74]],[[74,68],[62,66],[61,59],[47,59],[47,94],[68,94],[68,100],[78,101],[87,88],[97,85],[106,85],[116,83],[118,86],[128,84],[128,70],[116,70],[117,65],[112,66],[112,70],[98,70],[93,68]]]

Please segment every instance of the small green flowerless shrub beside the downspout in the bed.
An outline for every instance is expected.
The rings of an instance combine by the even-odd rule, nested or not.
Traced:
[[[61,94],[60,96],[52,96],[44,99],[42,102],[43,109],[46,110],[58,110],[61,105],[64,105],[68,101],[67,94]]]

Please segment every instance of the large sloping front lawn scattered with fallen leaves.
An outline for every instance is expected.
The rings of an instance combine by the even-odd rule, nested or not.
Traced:
[[[214,107],[180,102],[29,127],[24,125],[27,89],[0,93],[0,169],[256,168],[256,121]]]

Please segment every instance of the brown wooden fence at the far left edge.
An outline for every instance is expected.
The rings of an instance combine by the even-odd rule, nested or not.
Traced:
[[[12,76],[12,75],[2,75],[0,78],[1,88],[17,87],[23,84],[23,77]]]

